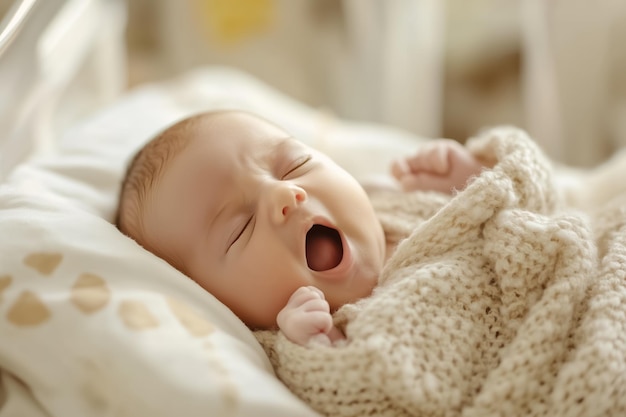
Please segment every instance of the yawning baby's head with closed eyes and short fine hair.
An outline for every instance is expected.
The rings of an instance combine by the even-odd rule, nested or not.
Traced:
[[[299,287],[331,309],[371,293],[382,227],[360,184],[268,121],[203,113],[135,156],[117,225],[248,326],[271,328]]]

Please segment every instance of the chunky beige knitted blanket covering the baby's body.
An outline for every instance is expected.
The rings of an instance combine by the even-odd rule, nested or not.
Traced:
[[[257,332],[278,377],[328,416],[626,415],[626,195],[575,212],[523,132],[468,147],[495,165],[464,191],[389,203],[410,234],[345,343]]]

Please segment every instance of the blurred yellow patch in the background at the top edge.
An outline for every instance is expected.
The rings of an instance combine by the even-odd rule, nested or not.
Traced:
[[[232,44],[267,30],[273,23],[274,0],[192,0],[208,35]]]

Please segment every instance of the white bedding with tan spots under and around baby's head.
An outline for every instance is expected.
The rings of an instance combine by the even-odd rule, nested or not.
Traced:
[[[363,181],[420,141],[224,68],[141,87],[68,131],[0,185],[0,417],[316,415],[237,317],[111,224],[134,151],[225,107],[268,117]]]

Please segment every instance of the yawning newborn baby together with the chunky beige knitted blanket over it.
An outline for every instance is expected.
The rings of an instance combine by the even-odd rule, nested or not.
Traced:
[[[205,113],[138,153],[118,226],[255,330],[323,415],[624,415],[621,177],[572,210],[510,127],[392,173],[415,192],[368,195],[272,123]]]

